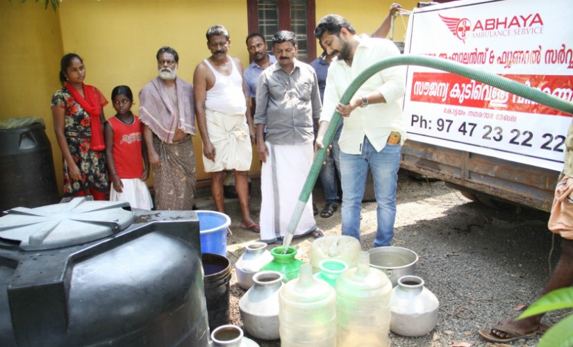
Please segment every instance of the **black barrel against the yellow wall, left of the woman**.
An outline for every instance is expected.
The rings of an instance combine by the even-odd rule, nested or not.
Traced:
[[[28,119],[30,124],[17,126]],[[2,123],[15,124],[15,128],[0,128],[0,212],[57,203],[58,185],[46,127],[31,117],[11,120]]]

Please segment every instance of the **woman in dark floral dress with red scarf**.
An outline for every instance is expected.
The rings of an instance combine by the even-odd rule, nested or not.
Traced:
[[[83,60],[74,53],[60,63],[63,88],[53,94],[53,128],[63,155],[64,196],[106,200],[109,180],[104,155],[103,106],[108,101],[96,87],[85,85]]]

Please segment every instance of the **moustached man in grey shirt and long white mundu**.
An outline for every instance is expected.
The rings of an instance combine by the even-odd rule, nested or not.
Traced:
[[[261,167],[260,239],[280,241],[313,164],[313,121],[322,110],[315,70],[300,62],[296,35],[272,38],[276,62],[258,78],[255,124]],[[266,138],[263,139],[267,127]],[[324,236],[313,217],[312,197],[294,236]]]

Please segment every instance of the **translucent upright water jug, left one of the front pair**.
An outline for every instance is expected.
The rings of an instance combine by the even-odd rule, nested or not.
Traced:
[[[313,278],[313,266],[303,264],[300,277],[281,288],[279,307],[281,347],[336,346],[335,291]]]

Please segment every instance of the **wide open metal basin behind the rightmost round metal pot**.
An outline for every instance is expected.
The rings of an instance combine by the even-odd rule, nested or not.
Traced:
[[[418,255],[408,248],[376,247],[369,249],[368,253],[370,253],[370,266],[384,271],[392,282],[392,287],[398,285],[398,279],[402,276],[414,275]]]

